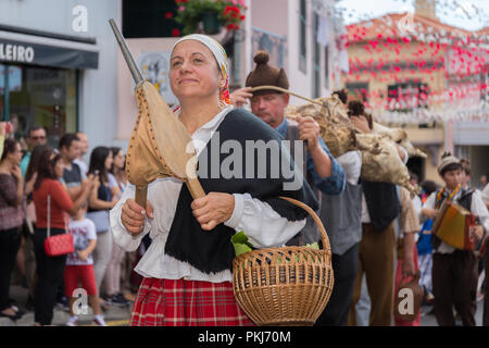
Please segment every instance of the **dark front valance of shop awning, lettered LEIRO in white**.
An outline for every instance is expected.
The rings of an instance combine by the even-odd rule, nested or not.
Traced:
[[[97,51],[27,44],[0,38],[0,62],[67,69],[98,69],[99,53]]]

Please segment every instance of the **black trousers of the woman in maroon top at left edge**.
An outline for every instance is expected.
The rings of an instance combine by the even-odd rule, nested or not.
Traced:
[[[20,246],[21,231],[18,227],[0,231],[0,311],[10,307],[10,277]]]

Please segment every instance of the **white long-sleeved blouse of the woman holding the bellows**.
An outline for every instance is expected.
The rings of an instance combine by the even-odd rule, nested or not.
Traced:
[[[192,134],[191,138],[197,156],[203,150],[221,122],[231,110],[233,107],[227,107]],[[138,248],[142,237],[148,233],[150,234],[151,246],[135,269],[137,273],[145,277],[185,278],[213,283],[231,282],[233,275],[229,270],[206,274],[164,252],[181,184],[179,179],[168,177],[158,178],[148,186],[148,201],[153,206],[154,216],[153,219],[146,219],[143,231],[136,238],[126,231],[121,222],[121,209],[124,202],[128,198],[134,199],[135,197],[135,187],[129,184],[121,200],[110,213],[111,229],[115,243],[127,251],[134,251]],[[236,232],[243,231],[249,241],[256,248],[281,246],[305,225],[305,219],[294,222],[288,221],[275,212],[269,204],[253,199],[249,194],[234,194],[234,197],[235,210],[231,217],[224,224]]]

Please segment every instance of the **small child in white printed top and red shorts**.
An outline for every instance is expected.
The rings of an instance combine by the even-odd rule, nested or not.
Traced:
[[[76,326],[78,315],[75,312],[75,301],[78,294],[78,282],[82,282],[85,291],[80,294],[88,295],[88,303],[93,310],[93,323],[99,326],[106,326],[103,315],[100,312],[99,296],[97,293],[97,284],[93,272],[92,251],[97,245],[97,231],[93,222],[85,217],[87,206],[71,216],[70,233],[75,244],[75,252],[68,254],[66,259],[66,268],[64,271],[64,287],[66,298],[70,304],[70,319],[67,326]],[[75,291],[75,294],[74,294]],[[83,310],[83,309],[82,309]]]

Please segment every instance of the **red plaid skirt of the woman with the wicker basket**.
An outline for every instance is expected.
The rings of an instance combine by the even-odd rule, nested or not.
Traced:
[[[251,326],[230,282],[143,278],[130,326]]]

